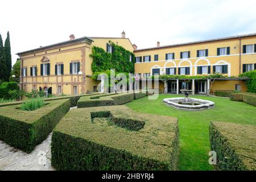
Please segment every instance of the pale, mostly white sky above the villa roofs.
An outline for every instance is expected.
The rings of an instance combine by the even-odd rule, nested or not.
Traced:
[[[126,37],[138,48],[256,33],[256,1],[13,1],[0,5],[0,33],[17,52],[81,36]]]

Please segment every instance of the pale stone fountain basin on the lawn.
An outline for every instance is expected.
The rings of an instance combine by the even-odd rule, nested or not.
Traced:
[[[212,101],[202,100],[199,98],[189,98],[189,101],[186,102],[184,97],[175,97],[175,98],[164,98],[163,100],[167,105],[176,107],[177,109],[184,110],[201,110],[209,109],[214,107],[215,103]]]

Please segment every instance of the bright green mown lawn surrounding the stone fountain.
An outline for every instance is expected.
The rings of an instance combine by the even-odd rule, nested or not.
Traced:
[[[213,109],[201,111],[179,110],[167,106],[163,98],[183,97],[160,94],[157,100],[147,97],[126,105],[141,113],[169,115],[178,118],[180,129],[179,170],[212,170],[208,163],[209,122],[234,122],[256,125],[256,107],[245,102],[230,101],[229,98],[193,96],[215,102]]]

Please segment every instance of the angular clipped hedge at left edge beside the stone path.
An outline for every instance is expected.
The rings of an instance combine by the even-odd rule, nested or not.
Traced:
[[[31,152],[68,112],[71,99],[47,101],[46,106],[33,111],[20,110],[19,106],[1,107],[0,139],[15,148]]]

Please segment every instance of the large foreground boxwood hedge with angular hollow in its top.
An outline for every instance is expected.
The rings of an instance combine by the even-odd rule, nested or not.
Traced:
[[[53,130],[51,164],[58,170],[175,170],[178,147],[176,118],[124,105],[87,107],[70,110]]]

